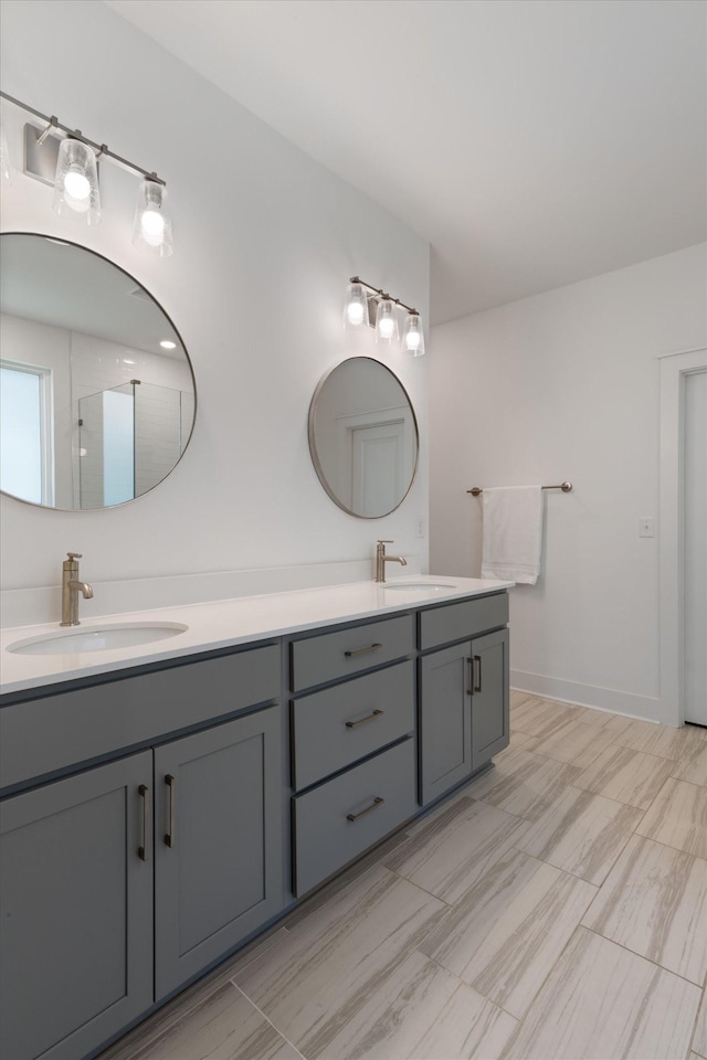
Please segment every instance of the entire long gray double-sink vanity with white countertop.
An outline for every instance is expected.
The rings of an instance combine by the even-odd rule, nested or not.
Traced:
[[[485,767],[509,739],[507,587],[149,612],[188,629],[56,657],[6,632],[2,1060],[94,1056]]]

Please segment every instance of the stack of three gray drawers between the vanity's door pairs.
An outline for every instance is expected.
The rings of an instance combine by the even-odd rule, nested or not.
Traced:
[[[297,898],[416,812],[413,635],[404,614],[289,645]]]

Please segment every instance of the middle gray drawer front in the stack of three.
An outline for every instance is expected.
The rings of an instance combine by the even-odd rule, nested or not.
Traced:
[[[294,787],[315,784],[412,732],[413,666],[399,662],[292,703]]]

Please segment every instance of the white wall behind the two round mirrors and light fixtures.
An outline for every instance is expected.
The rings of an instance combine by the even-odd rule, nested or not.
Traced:
[[[97,0],[3,2],[2,87],[167,180],[166,261],[131,246],[137,182],[110,163],[97,229],[59,219],[51,189],[21,173],[3,194],[2,229],[63,235],[127,269],[173,319],[198,393],[184,457],[135,502],[62,512],[2,498],[4,587],[56,583],[68,550],[83,552],[88,581],[358,560],[380,537],[422,553],[426,569],[415,528],[428,511],[429,359],[380,357],[410,393],[422,439],[415,485],[384,519],[356,519],[327,497],[307,410],[334,364],[378,356],[372,333],[345,340],[348,278],[426,318],[428,244]],[[19,128],[20,113],[6,114]],[[10,150],[21,168],[14,137]]]

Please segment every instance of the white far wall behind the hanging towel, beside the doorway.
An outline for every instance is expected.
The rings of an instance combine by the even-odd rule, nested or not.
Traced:
[[[477,574],[472,486],[546,492],[544,564],[511,591],[511,683],[662,718],[658,361],[705,346],[705,246],[433,329],[431,562]],[[656,537],[639,538],[639,518]]]

